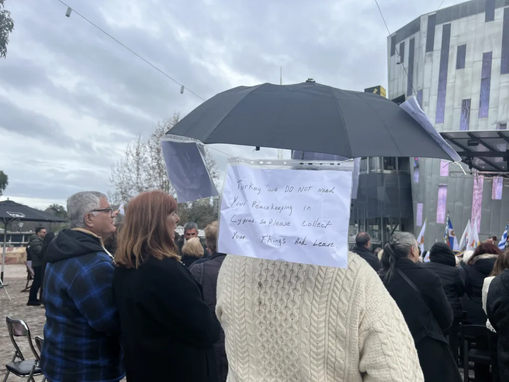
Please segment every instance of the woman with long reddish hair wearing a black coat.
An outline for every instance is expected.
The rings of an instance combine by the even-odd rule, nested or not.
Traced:
[[[220,325],[177,255],[176,212],[162,191],[140,194],[118,238],[113,290],[129,382],[217,381]]]

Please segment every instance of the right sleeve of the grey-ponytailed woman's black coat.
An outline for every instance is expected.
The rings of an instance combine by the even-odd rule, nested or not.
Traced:
[[[425,295],[440,329],[442,331],[449,329],[454,320],[453,308],[445,295],[440,278],[431,271],[427,272],[426,284],[422,288],[422,293]]]

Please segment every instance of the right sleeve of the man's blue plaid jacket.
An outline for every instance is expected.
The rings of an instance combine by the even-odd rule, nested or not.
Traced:
[[[114,269],[110,261],[98,261],[84,269],[68,290],[76,308],[89,325],[108,335],[120,333],[120,319],[112,287]]]

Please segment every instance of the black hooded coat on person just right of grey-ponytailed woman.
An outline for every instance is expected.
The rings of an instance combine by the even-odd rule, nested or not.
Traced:
[[[423,263],[422,266],[433,271],[440,278],[454,316],[460,318],[463,311],[460,297],[465,294],[465,285],[460,276],[460,270],[456,267],[453,252],[431,252],[430,261]]]

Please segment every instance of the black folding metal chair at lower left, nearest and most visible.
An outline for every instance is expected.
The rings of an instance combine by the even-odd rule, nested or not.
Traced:
[[[9,377],[10,373],[13,373],[17,375],[18,377],[27,377],[26,381],[32,381],[35,382],[34,376],[42,375],[42,370],[39,367],[39,361],[40,356],[39,353],[37,353],[34,343],[32,342],[32,337],[30,336],[30,329],[26,325],[26,323],[22,320],[16,320],[11,317],[6,317],[7,322],[7,329],[9,330],[9,336],[11,337],[11,342],[14,345],[14,348],[16,351],[14,352],[14,356],[12,357],[12,360],[10,363],[5,365],[7,369],[7,373],[4,377],[4,382],[7,382],[7,378]],[[25,360],[23,357],[23,353],[21,353],[21,350],[16,343],[15,338],[17,337],[27,337],[27,340],[29,342],[30,349],[34,353],[34,356],[36,357],[35,360]],[[19,361],[16,361],[16,359],[19,358]],[[46,378],[44,377],[43,381]]]

